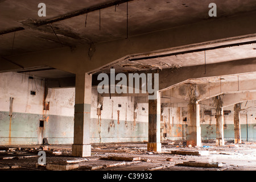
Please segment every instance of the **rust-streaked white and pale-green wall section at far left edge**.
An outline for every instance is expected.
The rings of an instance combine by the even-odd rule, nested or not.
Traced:
[[[36,144],[42,138],[44,80],[18,73],[0,74],[0,144]],[[36,95],[31,95],[36,91]],[[9,116],[10,97],[13,114]]]

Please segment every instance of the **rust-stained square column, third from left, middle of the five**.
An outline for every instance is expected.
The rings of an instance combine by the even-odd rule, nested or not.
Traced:
[[[201,147],[200,105],[197,103],[188,104],[186,138],[187,146]]]

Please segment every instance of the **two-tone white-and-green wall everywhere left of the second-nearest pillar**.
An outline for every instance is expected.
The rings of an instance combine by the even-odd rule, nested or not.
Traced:
[[[42,78],[31,80],[20,73],[0,73],[0,85],[0,144],[39,144],[43,138],[50,144],[73,143],[75,88],[48,89],[49,110],[44,110]],[[31,90],[36,91],[35,96]],[[12,117],[10,97],[14,98]],[[93,88],[91,142],[147,140],[148,104],[137,104],[137,108],[134,104],[134,97],[104,97],[101,115],[97,115],[98,93]]]

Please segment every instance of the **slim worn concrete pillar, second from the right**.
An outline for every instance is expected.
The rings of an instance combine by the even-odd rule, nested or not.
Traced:
[[[221,96],[215,97],[216,102],[216,146],[224,146],[224,110]]]

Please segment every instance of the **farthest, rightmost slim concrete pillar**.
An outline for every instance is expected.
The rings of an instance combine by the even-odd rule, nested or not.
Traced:
[[[234,105],[234,143],[242,143],[240,126],[241,103]]]

